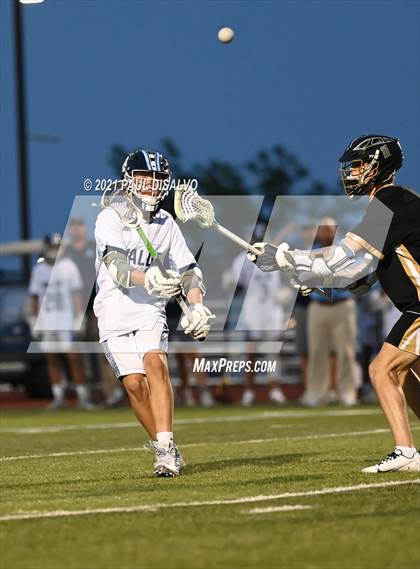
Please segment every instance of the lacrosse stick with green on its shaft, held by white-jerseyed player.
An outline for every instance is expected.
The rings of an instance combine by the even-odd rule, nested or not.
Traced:
[[[121,185],[116,189],[105,190],[105,192],[102,194],[101,206],[104,208],[113,209],[119,215],[125,227],[130,227],[137,231],[140,239],[145,244],[149,255],[155,261],[162,275],[165,278],[169,278],[170,275],[163,266],[162,261],[159,259],[159,256],[155,248],[150,242],[150,239],[147,237],[146,233],[143,231],[143,229],[140,226],[140,223],[143,219],[142,213],[127,200],[127,196],[123,191],[125,188],[124,184],[126,184],[126,182],[122,180]],[[191,310],[188,308],[188,305],[185,302],[184,295],[182,293],[177,295],[175,297],[175,300],[181,307],[182,312],[188,318],[188,321],[192,322],[193,317],[191,314]]]

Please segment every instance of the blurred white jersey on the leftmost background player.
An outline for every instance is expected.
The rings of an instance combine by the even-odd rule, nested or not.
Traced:
[[[35,330],[73,330],[73,297],[82,286],[79,269],[71,259],[57,259],[54,265],[46,261],[36,264],[29,283],[29,294],[38,297]]]

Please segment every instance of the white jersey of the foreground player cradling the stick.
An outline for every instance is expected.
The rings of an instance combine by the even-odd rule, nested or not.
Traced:
[[[167,268],[182,273],[195,266],[193,254],[173,217],[160,210],[142,229]],[[125,289],[115,284],[103,263],[110,250],[127,255],[130,268],[145,272],[152,259],[137,230],[125,227],[118,214],[104,209],[96,219],[97,292],[94,312],[101,342],[136,330],[153,330],[157,321],[166,322],[165,301],[150,296],[143,286]]]

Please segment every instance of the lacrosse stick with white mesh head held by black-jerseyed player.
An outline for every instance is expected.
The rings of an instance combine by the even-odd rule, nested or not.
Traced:
[[[261,251],[256,247],[253,247],[250,243],[247,243],[216,220],[214,215],[214,209],[209,200],[205,200],[198,195],[196,190],[188,187],[187,185],[182,185],[175,191],[175,213],[177,217],[185,223],[190,219],[195,219],[200,227],[215,229],[246,251],[250,251],[254,255],[260,255]],[[327,291],[323,288],[314,289],[320,292],[324,296],[329,296]]]

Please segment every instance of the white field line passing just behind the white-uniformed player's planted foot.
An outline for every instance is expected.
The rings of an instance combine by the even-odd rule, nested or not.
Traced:
[[[418,430],[420,427],[412,427],[412,430]],[[185,445],[180,445],[180,448],[193,448],[200,446],[209,445],[255,445],[264,443],[273,443],[278,441],[291,441],[291,440],[313,440],[313,439],[329,439],[335,437],[358,437],[363,435],[378,435],[383,433],[389,433],[389,429],[370,429],[369,431],[350,431],[346,433],[325,433],[320,435],[297,435],[293,437],[272,437],[267,439],[246,439],[242,441],[210,441],[203,443],[187,443]],[[108,454],[108,453],[118,453],[118,452],[137,452],[148,450],[144,446],[138,447],[118,447],[110,449],[95,449],[95,450],[79,450],[79,451],[66,451],[66,452],[52,452],[45,454],[21,454],[17,456],[2,456],[0,457],[0,462],[14,461],[14,460],[25,460],[30,458],[56,458],[62,456],[83,456],[89,454]]]

